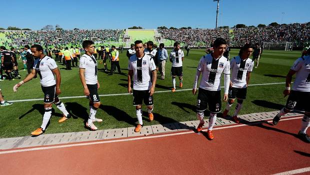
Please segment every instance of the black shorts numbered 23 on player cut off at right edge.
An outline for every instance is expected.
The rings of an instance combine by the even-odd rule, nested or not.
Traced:
[[[310,92],[291,90],[285,108],[290,111],[293,109],[303,109],[306,112],[310,112],[309,99]]]

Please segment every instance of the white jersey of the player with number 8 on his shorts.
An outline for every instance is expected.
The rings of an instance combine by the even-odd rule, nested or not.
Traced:
[[[79,59],[79,68],[85,69],[86,84],[97,83],[97,61],[93,55],[83,54]]]

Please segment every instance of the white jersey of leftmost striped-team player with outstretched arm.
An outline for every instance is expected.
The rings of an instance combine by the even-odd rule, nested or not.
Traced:
[[[49,56],[44,56],[42,59],[35,59],[33,68],[40,76],[41,86],[47,87],[56,84],[52,69],[57,68],[57,64],[54,59]]]

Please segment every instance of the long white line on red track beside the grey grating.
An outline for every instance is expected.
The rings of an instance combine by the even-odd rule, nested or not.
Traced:
[[[292,119],[299,119],[302,118],[301,116],[292,117],[292,118],[282,118],[281,121],[284,120],[292,120]],[[266,120],[262,120],[261,122],[265,122]],[[272,120],[267,121],[272,122]],[[256,122],[260,123],[259,121]],[[240,127],[240,126],[247,126],[248,124],[236,124],[236,125],[229,125],[229,126],[219,126],[213,128],[213,130],[219,129],[226,129],[232,127]],[[206,131],[207,129],[203,129]],[[0,151],[0,154],[6,153],[14,153],[14,152],[24,152],[24,151],[32,151],[32,150],[44,150],[44,149],[54,149],[54,148],[64,148],[64,147],[73,147],[73,146],[85,146],[85,145],[92,145],[92,144],[103,144],[103,143],[113,143],[113,142],[122,142],[122,141],[132,141],[132,140],[141,140],[141,139],[149,139],[149,138],[158,138],[158,137],[166,137],[166,136],[173,136],[173,135],[183,135],[188,133],[195,133],[194,131],[186,131],[186,132],[175,132],[175,133],[167,133],[162,135],[150,135],[150,136],[140,136],[140,137],[133,137],[133,138],[124,138],[124,139],[114,139],[114,140],[103,140],[103,141],[95,141],[95,142],[87,142],[87,143],[73,143],[73,144],[65,144],[65,145],[54,145],[54,146],[44,146],[44,147],[34,147],[34,148],[24,148],[24,149],[16,149],[16,150],[6,150]]]

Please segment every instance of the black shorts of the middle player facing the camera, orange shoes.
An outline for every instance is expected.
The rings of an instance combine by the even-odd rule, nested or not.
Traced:
[[[153,105],[153,95],[149,95],[149,90],[133,90],[132,104],[134,106],[142,104],[142,100],[146,106]]]

